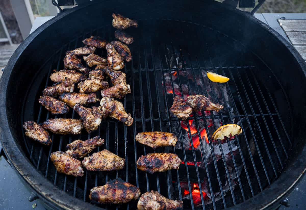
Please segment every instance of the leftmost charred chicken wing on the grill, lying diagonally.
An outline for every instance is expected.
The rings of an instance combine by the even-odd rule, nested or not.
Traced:
[[[50,145],[52,140],[50,135],[42,126],[34,121],[27,121],[23,124],[24,133],[27,137],[43,145]]]

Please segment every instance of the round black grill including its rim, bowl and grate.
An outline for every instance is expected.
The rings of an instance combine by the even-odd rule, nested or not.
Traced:
[[[84,37],[92,34],[105,36],[110,41],[114,39],[114,29],[111,27],[113,12],[140,19],[140,27],[131,30],[137,40],[131,46],[133,62],[127,64],[125,69],[132,94],[123,100],[136,125],[126,128],[108,120],[97,132],[106,139],[106,148],[113,149],[121,157],[125,155],[129,160],[122,171],[106,176],[86,173],[84,179],[75,181],[57,174],[52,169],[53,166],[49,166],[48,153],[64,150],[66,143],[77,138],[53,135],[54,145],[51,149],[40,147],[24,138],[22,123],[37,119],[42,123],[45,119],[54,117],[41,109],[36,102],[43,88],[51,84],[48,80],[50,72],[62,68],[65,50],[81,46],[80,41]],[[171,57],[178,57],[182,66],[171,66]],[[212,70],[231,78],[225,88],[232,99],[230,106],[233,113],[224,110],[221,115],[208,118],[220,119],[222,123],[230,122],[233,120],[231,118],[238,121],[245,119],[245,133],[250,136],[240,138],[242,149],[235,155],[234,166],[243,165],[249,175],[243,174],[245,178],[238,180],[235,188],[221,193],[214,202],[206,203],[201,199],[201,203],[205,203],[206,208],[217,209],[231,206],[235,209],[272,208],[277,205],[276,201],[292,189],[306,168],[303,156],[305,98],[300,97],[305,95],[305,88],[300,85],[305,83],[305,69],[304,60],[279,34],[254,17],[217,2],[91,2],[48,21],[33,32],[13,54],[1,80],[1,141],[21,179],[49,208],[100,209],[82,200],[88,201],[91,185],[102,185],[116,176],[141,186],[142,193],[148,188],[155,189],[157,184],[157,189],[163,195],[180,199],[184,197],[184,192],[180,191],[179,178],[185,178],[181,181],[186,181],[190,186],[191,182],[201,182],[203,176],[205,177],[201,173],[209,171],[212,174],[209,175],[211,183],[208,191],[212,188],[218,191],[223,186],[222,182],[228,179],[229,170],[222,162],[221,166],[216,166],[217,161],[214,158],[204,167],[204,171],[200,167],[190,168],[186,164],[188,170],[181,167],[179,172],[172,171],[154,177],[137,171],[133,160],[150,151],[135,144],[133,135],[136,132],[173,131],[175,127],[180,127],[178,121],[168,114],[173,95],[166,93],[166,85],[163,85],[167,82],[165,74],[174,70],[178,74],[183,72],[179,76],[181,80],[170,79],[169,87],[172,92],[184,94],[185,84],[189,94],[208,94],[206,86],[192,86],[191,81],[201,78],[200,72]],[[193,78],[188,79],[186,76],[187,79],[184,80],[187,75],[184,72]],[[203,78],[200,80],[205,82]],[[178,88],[174,86],[175,83]],[[212,97],[215,100],[222,99],[217,95]],[[74,117],[78,116],[75,114]],[[274,132],[269,129],[263,131],[265,123],[273,129],[273,123],[268,121],[269,117],[275,124]],[[262,130],[251,132],[248,125],[253,126],[253,123]],[[207,125],[204,127],[209,130]],[[189,126],[187,130],[190,132]],[[179,133],[182,134],[182,131]],[[245,148],[252,135],[258,140],[254,146],[258,145],[256,151],[260,153],[253,156],[253,161]],[[81,139],[85,140],[87,137],[89,138],[82,135]],[[203,150],[201,145],[200,153]],[[188,153],[183,149],[175,151],[184,162],[188,158],[196,162],[199,158],[197,152]],[[135,155],[131,156],[130,153]],[[222,154],[221,159],[224,160],[225,155]],[[262,160],[259,160],[260,157]],[[258,175],[254,175],[254,170]],[[267,186],[270,187],[266,188]],[[69,190],[70,193],[65,193]],[[125,207],[127,206],[122,208]],[[188,208],[197,206],[191,202]]]

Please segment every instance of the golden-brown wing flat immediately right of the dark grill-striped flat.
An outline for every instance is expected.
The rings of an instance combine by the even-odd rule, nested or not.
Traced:
[[[95,93],[63,93],[59,96],[59,100],[65,102],[71,108],[73,108],[76,104],[88,105],[100,101]]]

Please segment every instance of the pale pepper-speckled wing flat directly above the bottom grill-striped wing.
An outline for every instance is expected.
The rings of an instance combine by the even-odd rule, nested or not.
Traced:
[[[124,158],[103,149],[100,152],[93,153],[91,156],[84,157],[83,167],[88,171],[114,171],[124,167]]]

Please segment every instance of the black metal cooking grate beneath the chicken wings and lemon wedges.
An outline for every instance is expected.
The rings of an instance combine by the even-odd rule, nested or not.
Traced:
[[[187,35],[182,33],[182,35],[177,34],[174,36],[175,31],[171,32],[171,30],[169,30],[170,32],[168,31],[170,33],[169,37],[165,35],[165,41],[160,43],[159,39],[146,36],[146,33],[151,33],[152,35],[152,31],[141,30],[141,28],[146,28],[143,26],[145,24],[147,27],[157,25],[159,29],[173,27],[181,28],[182,31],[188,31],[188,29],[189,31],[195,31],[188,39],[192,42],[190,45],[195,42],[200,50],[189,45],[186,46],[186,43],[182,44],[183,42],[180,39],[187,40]],[[123,72],[127,74],[127,83],[131,85],[132,93],[122,99],[122,102],[125,110],[128,113],[132,113],[135,123],[131,127],[125,127],[122,123],[107,118],[106,121],[101,123],[99,129],[91,134],[76,136],[51,134],[53,142],[50,147],[42,147],[24,138],[29,158],[36,169],[41,171],[54,185],[73,195],[73,197],[84,201],[89,201],[89,190],[92,187],[104,185],[110,179],[117,177],[121,177],[127,182],[140,187],[142,193],[148,190],[157,190],[166,197],[182,200],[185,196],[180,182],[186,181],[188,183],[190,201],[184,200],[184,207],[192,209],[222,209],[230,207],[253,197],[270,185],[284,169],[289,157],[289,149],[292,145],[285,128],[290,119],[286,118],[284,121],[286,123],[282,121],[281,115],[283,116],[283,111],[278,110],[278,101],[280,100],[276,100],[283,99],[285,96],[281,90],[282,87],[278,84],[271,71],[241,45],[210,28],[200,27],[199,29],[199,25],[196,24],[171,20],[140,22],[140,25],[141,27],[137,30],[142,31],[143,34],[142,36],[139,35],[135,39],[139,41],[136,41],[130,47],[133,60],[131,63],[126,64],[123,69]],[[211,38],[200,39],[207,33],[211,34]],[[37,87],[36,83],[33,83],[28,92],[28,94],[33,93],[33,91],[35,93],[35,103],[32,108],[34,115],[33,113],[24,112],[24,120],[33,119],[37,120],[38,123],[42,123],[49,118],[62,117],[53,116],[36,103],[43,88],[52,84],[49,79],[50,73],[53,69],[60,70],[63,68],[62,60],[65,51],[82,46],[82,39],[90,35],[100,35],[113,40],[113,34],[114,29],[111,27],[106,28],[106,30],[102,28],[93,30],[90,33],[76,37],[58,50],[53,57],[49,58],[38,71],[38,74],[43,72],[44,80],[42,82],[41,80],[39,81],[39,87]],[[192,50],[188,50],[188,48]],[[222,50],[219,52],[231,50],[233,55],[229,56],[227,54],[222,57],[217,54],[219,53],[218,50]],[[102,50],[98,50],[97,54],[106,57],[106,53]],[[233,59],[234,57],[236,60]],[[170,63],[173,58],[177,58],[174,68]],[[235,64],[236,61],[241,63],[237,65]],[[179,63],[182,66],[179,66]],[[203,76],[202,74],[207,70],[228,76],[230,81],[225,84],[213,84],[209,80],[205,80],[205,75]],[[169,90],[166,89],[166,85],[163,85],[167,83],[163,75],[172,75],[172,71],[176,71],[178,75],[175,81],[172,76],[169,76],[172,93],[180,92],[181,95],[184,95],[183,89],[187,87],[189,95],[203,94],[209,96],[213,102],[229,101],[229,104],[224,105],[224,109],[219,113],[211,112],[210,116],[206,116],[204,112],[202,112],[201,116],[193,113],[193,116],[188,119],[194,120],[196,125],[196,134],[200,140],[200,149],[198,151],[203,157],[204,164],[202,168],[199,168],[197,164],[199,161],[197,159],[198,151],[191,149],[190,153],[190,150],[188,151],[186,150],[187,148],[184,148],[182,139],[186,131],[180,126],[180,120],[169,112],[174,94],[167,93]],[[264,75],[261,72],[264,72]],[[270,78],[271,84],[263,83],[262,81],[265,81],[263,78]],[[38,79],[39,76],[36,80]],[[207,81],[209,82],[207,83]],[[211,90],[205,88],[207,85],[211,87]],[[225,95],[225,92],[221,90],[226,90],[228,94]],[[100,94],[97,94],[97,96],[101,98]],[[226,98],[229,99],[226,100]],[[95,105],[98,106],[99,103]],[[27,109],[24,108],[24,110]],[[79,119],[79,116],[74,111],[70,111],[63,117]],[[218,128],[215,120],[221,120],[222,124],[227,124],[236,119],[240,123],[243,134],[235,137],[238,148],[236,151],[232,150],[229,139],[224,142],[229,146],[229,154],[224,154],[222,149],[223,142],[220,140],[211,142],[210,137],[212,134],[209,132],[207,119],[212,120],[214,130]],[[211,153],[214,153],[213,148],[215,146],[221,151],[221,158],[216,159],[215,155],[213,155],[209,164],[207,162],[210,160],[205,157],[207,150],[205,150],[201,141],[200,120],[204,122]],[[190,125],[189,123],[186,124],[188,134],[192,136]],[[153,150],[136,143],[134,138],[138,132],[174,132],[176,131],[174,128],[179,131],[176,134],[181,139],[181,149],[167,147]],[[106,140],[105,145],[97,148],[95,152],[102,148],[109,149],[120,157],[125,158],[125,168],[113,172],[84,170],[84,176],[81,178],[57,173],[50,162],[50,153],[58,150],[65,151],[66,144],[76,139],[86,140],[95,135],[100,135],[101,138]],[[253,139],[252,144],[250,139]],[[189,141],[191,148],[193,148],[191,138]],[[177,153],[185,164],[181,164],[178,171],[166,171],[154,175],[137,170],[136,160],[138,157],[150,152]],[[230,160],[226,159],[225,156],[230,156]],[[187,165],[188,160],[193,161],[194,166]],[[237,178],[234,180],[236,185],[229,184],[229,189],[225,190],[222,182],[224,180],[228,183],[233,181],[231,180],[227,161],[230,161],[230,164],[233,165]],[[184,174],[181,171],[184,171]],[[202,173],[203,171],[204,173]],[[239,171],[241,172],[239,173]],[[213,195],[219,191],[220,194],[218,196],[212,196],[211,199],[203,198],[201,182],[204,177],[206,177],[208,183],[207,192]],[[196,183],[199,186],[201,205],[194,204],[192,183]],[[136,201],[132,201],[120,206],[101,205],[101,207],[108,209],[135,209],[136,203]]]

